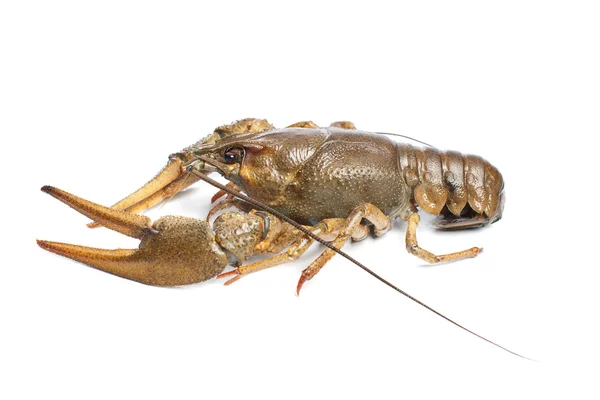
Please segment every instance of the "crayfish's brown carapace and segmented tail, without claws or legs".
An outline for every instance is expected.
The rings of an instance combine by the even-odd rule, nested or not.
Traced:
[[[214,160],[232,148],[244,149],[244,156],[225,176],[306,225],[346,218],[361,203],[404,219],[418,206],[440,216],[439,229],[483,226],[502,213],[502,175],[478,156],[335,127],[233,137],[208,156]]]

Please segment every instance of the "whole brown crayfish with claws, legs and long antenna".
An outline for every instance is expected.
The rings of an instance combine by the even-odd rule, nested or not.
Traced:
[[[230,183],[213,181],[207,176],[211,172]],[[174,216],[151,223],[137,214],[198,180],[221,189],[213,202],[226,196],[207,221],[225,209],[235,211],[223,212],[212,227],[207,221]],[[42,248],[149,285],[186,285],[213,277],[229,277],[229,284],[296,260],[318,241],[327,249],[302,272],[298,293],[335,253],[375,275],[340,248],[349,239],[385,234],[393,218],[407,221],[407,250],[429,263],[475,257],[481,252],[478,247],[445,255],[423,249],[416,235],[419,209],[438,216],[436,228],[458,230],[498,221],[504,205],[502,175],[483,158],[397,143],[347,121],[326,128],[305,121],[275,129],[264,119],[220,126],[169,156],[154,179],[110,208],[53,187],[42,190],[90,217],[90,226],[141,240],[137,250],[38,241]],[[261,253],[273,255],[244,264]],[[223,273],[229,264],[234,269]]]

